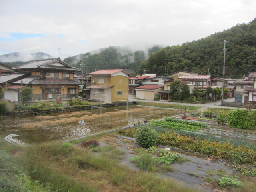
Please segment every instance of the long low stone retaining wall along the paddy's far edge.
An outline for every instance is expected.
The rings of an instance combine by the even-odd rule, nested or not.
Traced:
[[[67,106],[65,108],[40,109],[40,110],[33,110],[33,111],[17,111],[17,112],[9,112],[5,118],[44,115],[44,114],[68,112],[68,111],[74,112],[74,111],[90,110],[90,109],[97,109],[97,108],[119,107],[119,106],[133,105],[133,104],[134,102],[132,101],[123,101],[123,102],[118,101],[118,102],[104,103],[104,104],[98,104],[98,105]]]

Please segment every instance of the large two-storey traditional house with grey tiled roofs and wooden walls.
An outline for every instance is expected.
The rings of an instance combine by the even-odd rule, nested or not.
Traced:
[[[32,101],[78,97],[79,86],[82,86],[82,82],[74,80],[74,74],[80,69],[70,66],[60,58],[35,60],[12,69],[18,74],[26,74],[26,77],[12,82],[12,85],[32,87]],[[8,95],[5,98],[8,99]]]

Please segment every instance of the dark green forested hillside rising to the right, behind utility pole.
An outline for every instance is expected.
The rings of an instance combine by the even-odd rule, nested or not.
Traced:
[[[222,77],[226,43],[226,78],[240,78],[256,70],[256,18],[248,24],[236,26],[182,45],[166,47],[142,62],[138,73],[168,74],[187,70],[198,74]],[[168,64],[169,63],[169,64]]]

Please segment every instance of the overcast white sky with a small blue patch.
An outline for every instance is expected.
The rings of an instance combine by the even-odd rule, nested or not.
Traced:
[[[172,46],[255,17],[256,0],[0,0],[0,55]]]

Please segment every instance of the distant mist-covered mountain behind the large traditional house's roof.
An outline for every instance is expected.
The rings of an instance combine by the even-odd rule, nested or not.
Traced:
[[[0,56],[0,61],[1,62],[15,62],[15,61],[31,61],[31,60],[36,60],[36,59],[48,59],[48,58],[53,58],[53,56],[47,54],[47,53],[9,53],[5,55]]]

